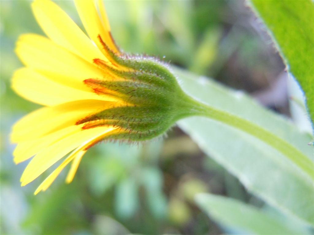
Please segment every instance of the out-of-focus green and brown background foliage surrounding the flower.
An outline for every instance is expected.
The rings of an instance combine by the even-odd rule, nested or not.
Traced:
[[[82,28],[72,1],[56,1]],[[1,0],[1,234],[219,234],[194,202],[200,192],[263,202],[205,156],[179,128],[139,145],[101,143],[84,156],[69,185],[65,172],[37,196],[49,174],[21,188],[27,163],[14,165],[12,124],[39,107],[10,89],[17,37],[43,34],[31,1]],[[244,1],[106,1],[116,43],[252,94],[290,116],[287,75],[269,36]],[[44,59],[44,58],[43,58]],[[295,85],[293,86],[295,87]],[[298,115],[292,115],[295,119]],[[303,125],[300,121],[300,125]],[[307,127],[304,127],[305,129]],[[214,134],[214,133],[213,133]]]

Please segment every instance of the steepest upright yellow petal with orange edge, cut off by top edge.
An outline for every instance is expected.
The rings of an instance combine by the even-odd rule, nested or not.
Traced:
[[[103,47],[97,38],[97,36],[100,35],[111,50],[118,52],[114,42],[112,41],[109,31],[110,29],[107,27],[109,25],[108,21],[105,17],[99,17],[94,1],[75,0],[74,2],[90,39],[92,39],[98,48],[102,50]],[[101,11],[103,11],[102,14],[105,15],[104,9],[101,9]],[[103,20],[106,20],[106,22],[102,22]]]

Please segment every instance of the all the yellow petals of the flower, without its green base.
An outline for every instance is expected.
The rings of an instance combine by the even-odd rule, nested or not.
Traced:
[[[61,8],[43,0],[33,2],[32,10],[48,38],[25,34],[17,42],[16,53],[25,67],[14,73],[12,88],[20,96],[47,106],[25,116],[13,127],[11,139],[18,143],[14,162],[35,155],[21,177],[22,186],[72,151],[35,194],[46,190],[72,161],[66,179],[71,182],[86,149],[117,131],[113,126],[82,130],[84,124],[76,122],[125,103],[117,97],[97,95],[84,84],[88,78],[104,78],[104,71],[93,64],[95,58],[113,66],[110,57],[101,53],[103,46],[98,35],[113,52],[119,51],[111,38],[102,2],[78,0],[75,4],[91,40]]]

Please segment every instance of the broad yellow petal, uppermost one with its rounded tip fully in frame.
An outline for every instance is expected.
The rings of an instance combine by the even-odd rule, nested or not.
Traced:
[[[20,36],[15,51],[26,66],[52,72],[55,81],[76,89],[90,91],[84,80],[104,76],[103,71],[92,64],[93,61],[89,63],[40,35]]]

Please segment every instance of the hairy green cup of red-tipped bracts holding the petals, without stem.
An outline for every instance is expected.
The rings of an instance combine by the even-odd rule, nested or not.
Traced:
[[[89,78],[84,83],[97,94],[117,97],[124,104],[117,103],[76,124],[84,124],[83,129],[113,126],[118,131],[108,139],[133,142],[158,137],[180,118],[192,115],[195,103],[181,90],[166,64],[153,57],[116,55],[105,43],[103,46],[113,66],[100,59],[94,63],[113,79]]]

